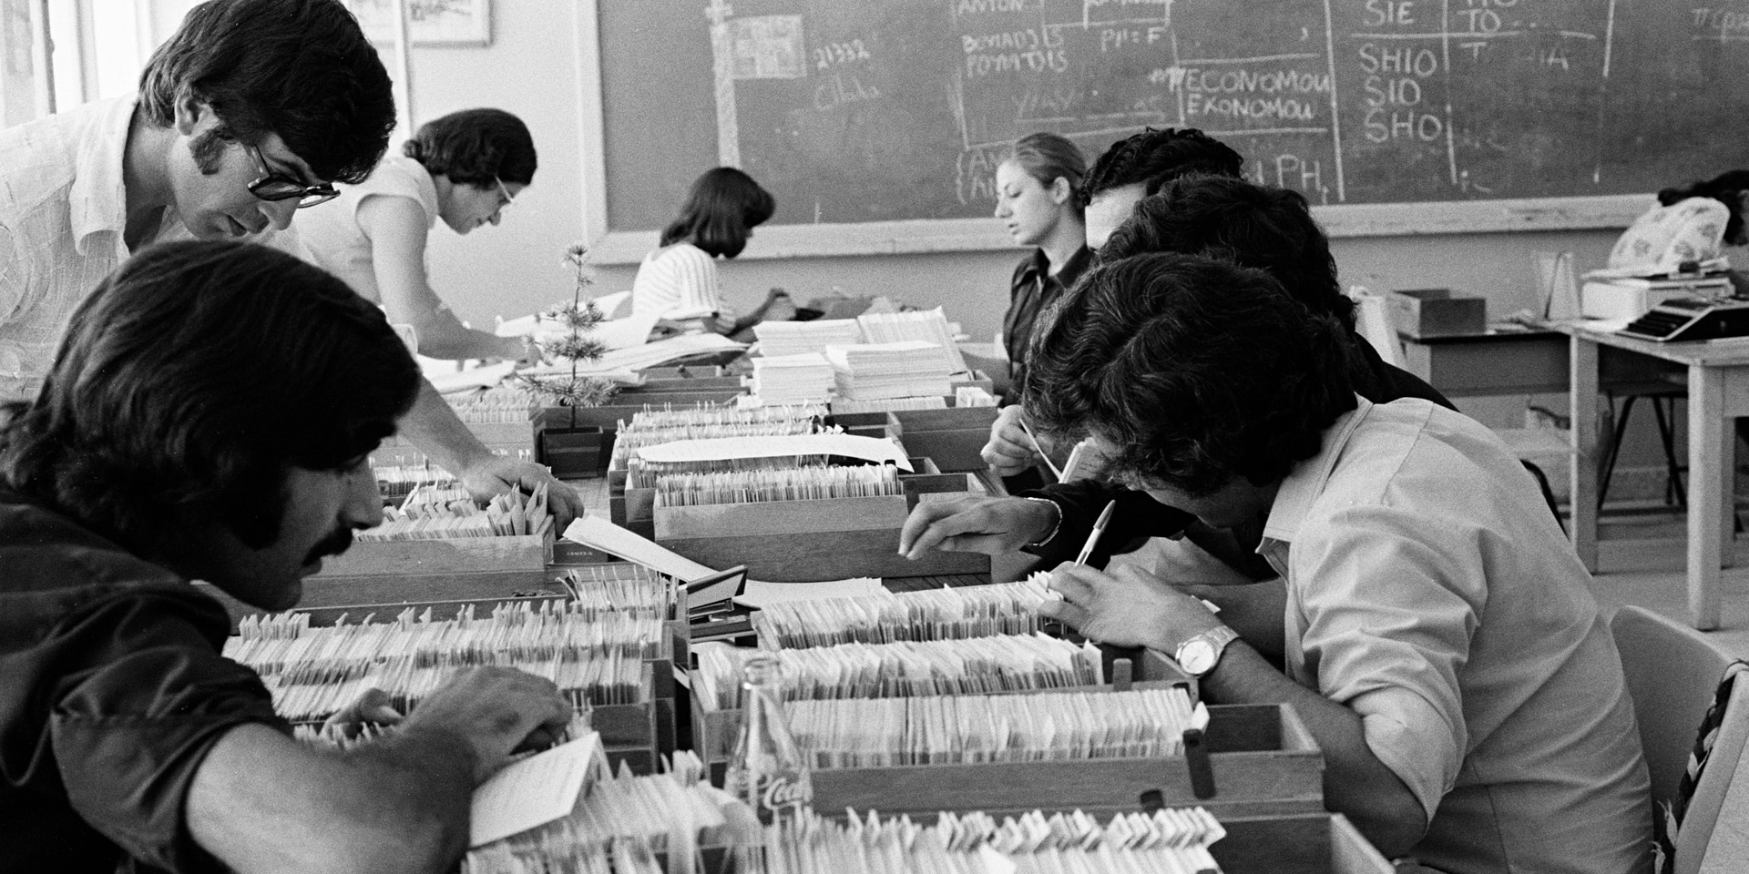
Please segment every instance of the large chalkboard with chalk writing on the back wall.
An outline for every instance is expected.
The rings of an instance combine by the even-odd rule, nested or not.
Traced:
[[[1354,213],[1376,232],[1441,229],[1450,215],[1473,217],[1455,229],[1611,224],[1644,192],[1749,166],[1749,0],[637,0],[596,12],[610,231],[659,227],[719,163],[771,189],[777,225],[979,218],[1002,149],[1032,131],[1070,136],[1091,159],[1144,126],[1202,128],[1254,178],[1334,208],[1326,220],[1389,206]]]

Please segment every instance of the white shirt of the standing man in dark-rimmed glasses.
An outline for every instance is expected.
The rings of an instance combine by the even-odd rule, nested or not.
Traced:
[[[122,152],[135,98],[0,129],[0,400],[37,393],[66,320],[128,257]],[[164,210],[154,239],[185,236]]]

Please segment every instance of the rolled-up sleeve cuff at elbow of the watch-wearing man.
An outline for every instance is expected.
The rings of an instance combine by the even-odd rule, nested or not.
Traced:
[[[1457,785],[1462,729],[1453,727],[1422,696],[1399,687],[1375,689],[1348,701],[1361,715],[1366,746],[1385,764],[1432,822],[1439,799]]]

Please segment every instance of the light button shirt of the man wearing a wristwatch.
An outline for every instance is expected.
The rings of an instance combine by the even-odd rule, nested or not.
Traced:
[[[1476,421],[1359,400],[1282,481],[1258,552],[1289,675],[1361,715],[1424,864],[1641,872],[1646,764],[1621,659],[1537,486]]]

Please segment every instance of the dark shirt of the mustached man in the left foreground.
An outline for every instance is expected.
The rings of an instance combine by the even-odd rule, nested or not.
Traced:
[[[289,731],[219,601],[0,488],[0,871],[222,871],[182,818],[233,725]]]

